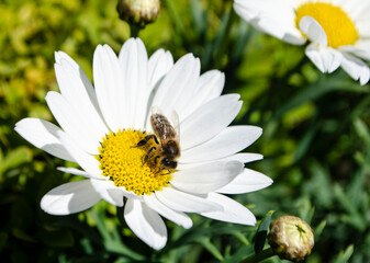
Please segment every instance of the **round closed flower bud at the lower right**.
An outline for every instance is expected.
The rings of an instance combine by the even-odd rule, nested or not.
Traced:
[[[280,259],[300,261],[311,253],[314,232],[301,218],[282,216],[271,224],[268,240]]]

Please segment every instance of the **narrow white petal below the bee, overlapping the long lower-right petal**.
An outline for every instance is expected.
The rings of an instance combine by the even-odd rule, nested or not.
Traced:
[[[177,211],[200,213],[222,209],[218,204],[172,187],[166,187],[160,192],[156,192],[156,197],[166,206]]]

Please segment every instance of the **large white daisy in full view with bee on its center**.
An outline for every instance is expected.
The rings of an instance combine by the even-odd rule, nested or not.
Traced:
[[[259,160],[261,155],[237,153],[262,130],[227,127],[242,102],[238,94],[221,95],[225,81],[222,72],[200,75],[200,61],[191,54],[175,65],[171,54],[162,49],[148,58],[138,38],[128,39],[119,57],[108,45],[97,47],[94,88],[68,55],[57,52],[55,58],[60,93],[48,92],[46,102],[61,128],[43,119],[24,118],[15,130],[40,149],[78,163],[81,170],[58,170],[86,180],[49,191],[41,201],[43,210],[69,215],[101,199],[125,206],[127,226],[157,250],[167,241],[160,216],[184,228],[192,226],[184,213],[255,225],[256,218],[246,207],[223,194],[248,193],[272,183],[268,176],[244,168],[243,163]],[[176,169],[162,167],[164,141],[157,145],[156,139],[164,138],[157,136],[138,146],[153,134],[153,105],[168,119],[171,113],[178,115],[178,125],[169,124],[181,130],[176,135],[180,157],[169,158],[178,163]]]

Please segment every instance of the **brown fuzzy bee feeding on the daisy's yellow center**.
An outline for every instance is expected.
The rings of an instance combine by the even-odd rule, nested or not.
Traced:
[[[167,119],[167,117],[156,106],[152,107],[150,125],[154,134],[147,135],[137,142],[136,147],[144,146],[150,139],[154,139],[157,146],[150,147],[144,157],[144,163],[148,160],[153,150],[156,149],[157,155],[154,158],[154,162],[157,163],[159,159],[159,171],[170,170],[177,168],[177,159],[180,157],[180,126],[179,115],[173,112],[171,116],[173,126]]]

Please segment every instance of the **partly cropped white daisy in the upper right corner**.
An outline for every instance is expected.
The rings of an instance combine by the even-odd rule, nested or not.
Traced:
[[[234,9],[258,30],[293,45],[322,72],[339,66],[363,85],[370,70],[369,0],[235,0]],[[362,60],[363,59],[363,60]]]

